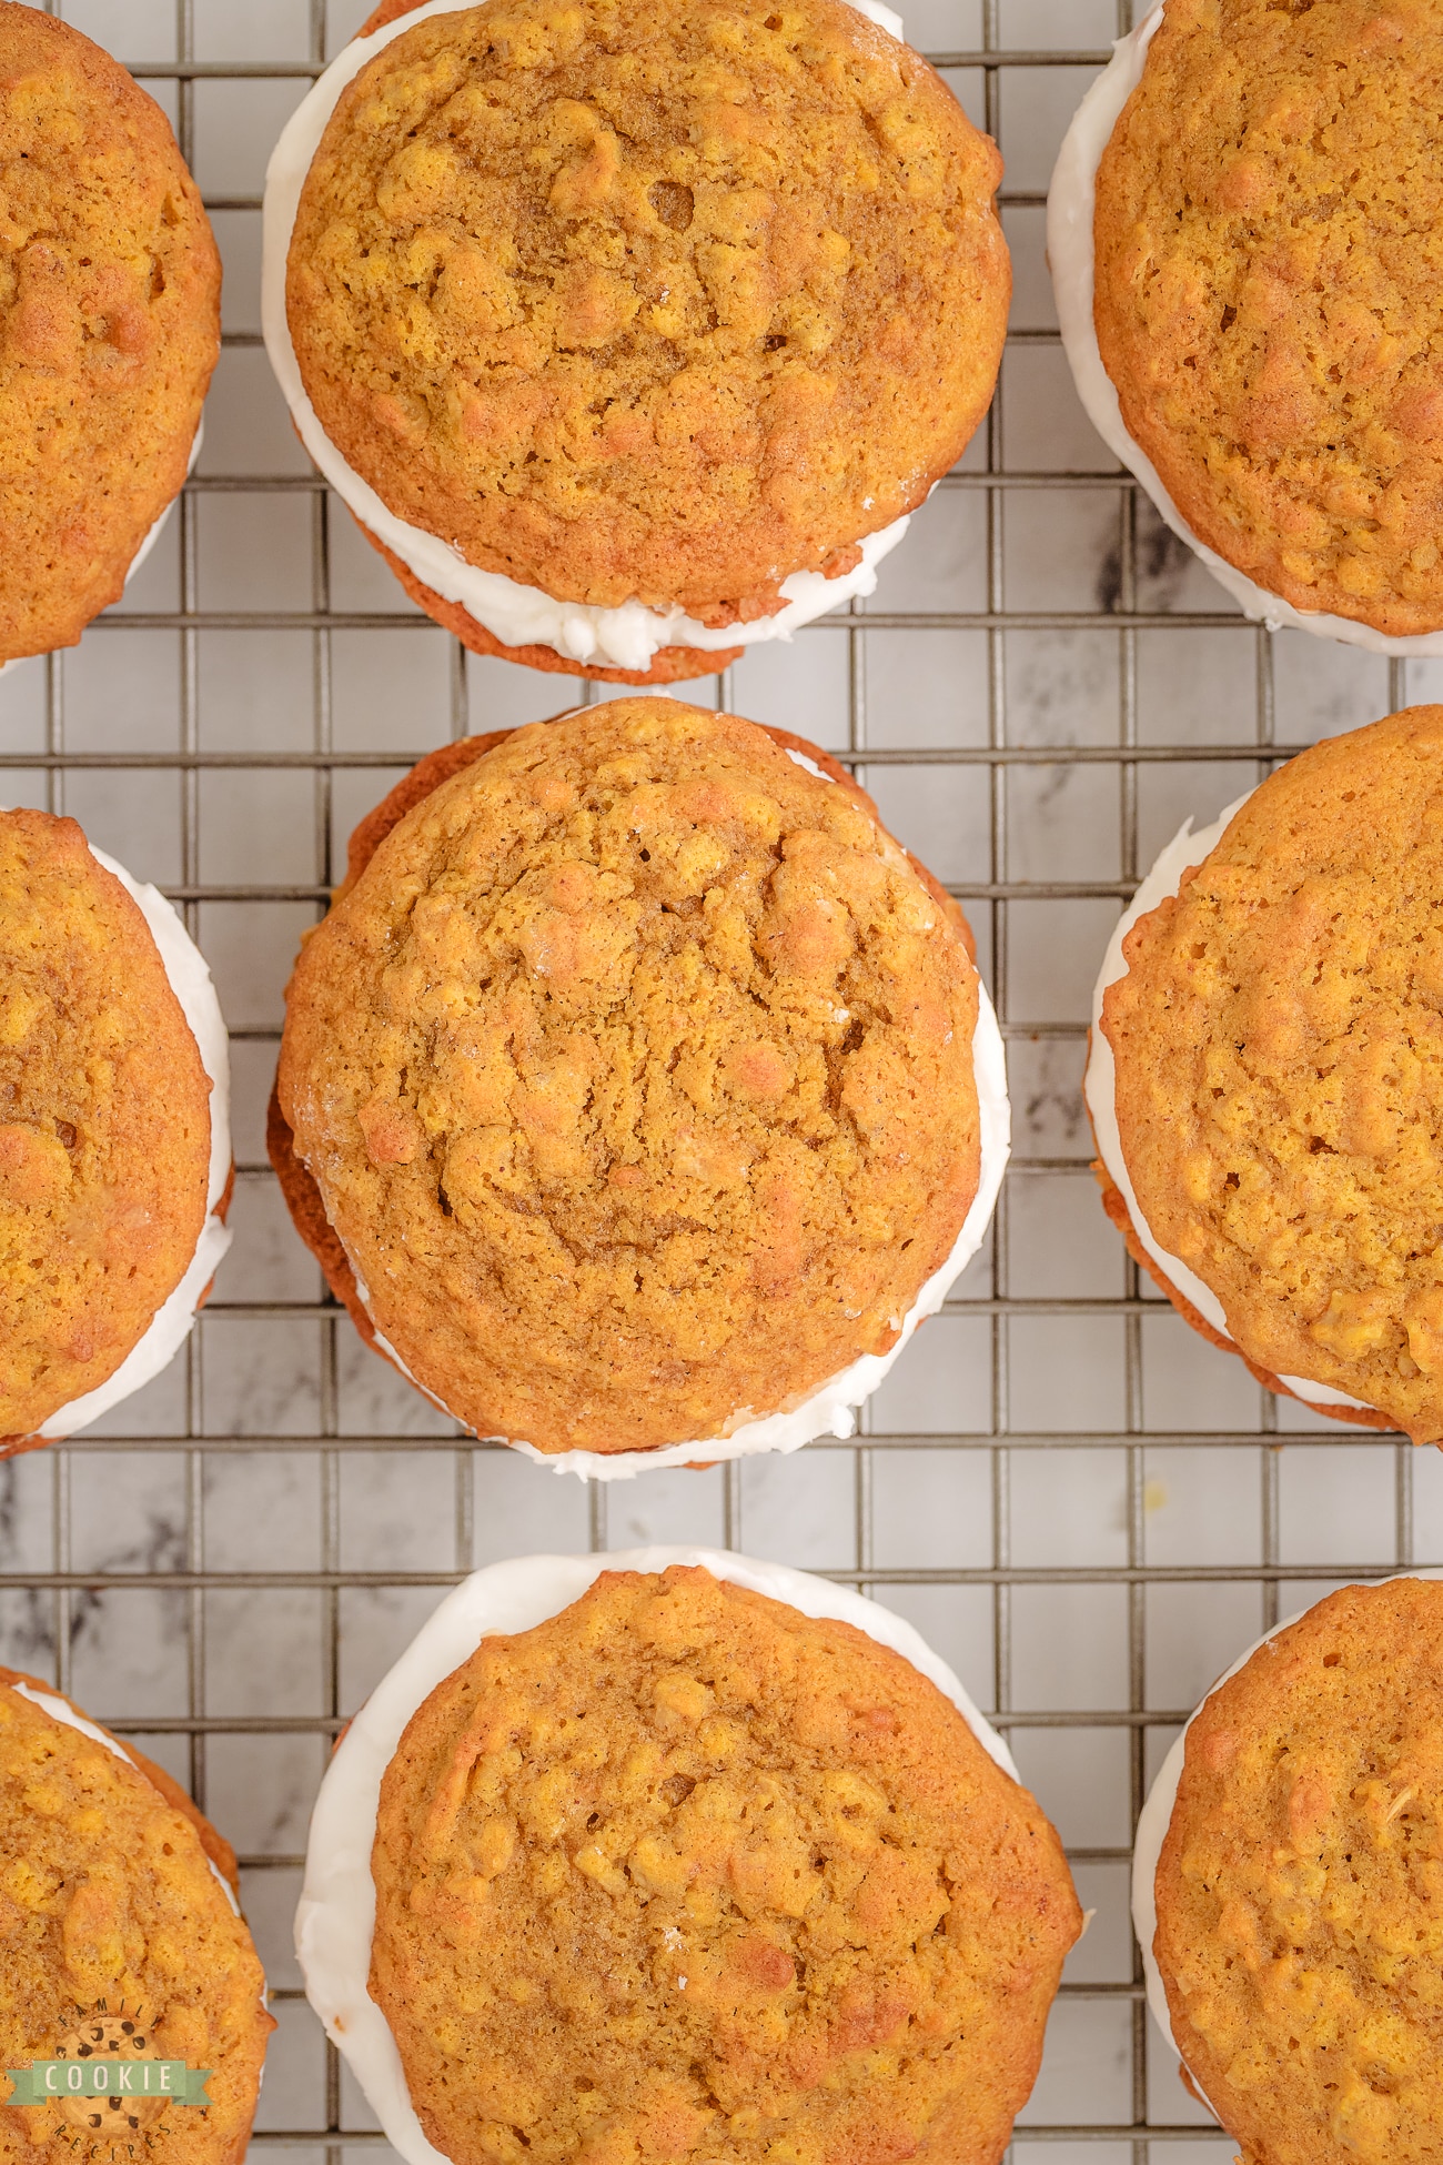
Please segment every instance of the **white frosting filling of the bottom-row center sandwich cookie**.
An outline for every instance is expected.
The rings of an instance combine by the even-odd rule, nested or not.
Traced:
[[[370,1851],[381,1777],[415,1708],[463,1661],[469,1661],[485,1637],[532,1630],[547,1617],[560,1615],[601,1572],[664,1572],[673,1563],[699,1563],[716,1578],[770,1593],[772,1600],[787,1602],[809,1617],[842,1617],[881,1645],[893,1648],[952,1700],[978,1743],[1017,1780],[1008,1747],[919,1632],[863,1593],[813,1578],[811,1572],[794,1572],[785,1563],[757,1563],[718,1548],[515,1557],[474,1572],[446,1596],[335,1747],[312,1812],[305,1886],[296,1907],[296,1955],[305,1974],[305,1996],[325,2022],[327,2037],[350,2063],[366,2102],[407,2165],[448,2165],[448,2161],[422,2133],[396,2037],[368,1992],[376,1925]]]

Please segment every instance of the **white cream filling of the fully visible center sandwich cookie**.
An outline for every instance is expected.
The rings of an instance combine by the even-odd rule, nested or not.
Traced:
[[[573,712],[582,710],[575,708]],[[556,719],[565,721],[565,714]],[[816,775],[820,782],[831,782],[831,775],[824,773],[816,760],[809,760],[805,751],[796,751],[792,745],[787,745],[785,751],[796,766],[805,766],[807,773]],[[582,1481],[632,1481],[636,1474],[649,1472],[656,1466],[694,1466],[697,1461],[716,1464],[720,1459],[744,1459],[757,1451],[800,1451],[803,1444],[816,1442],[818,1435],[855,1435],[857,1407],[878,1388],[917,1325],[926,1321],[926,1316],[935,1316],[939,1312],[948,1293],[982,1247],[991,1215],[997,1206],[1002,1176],[1006,1173],[1010,1156],[1012,1106],[1008,1100],[1006,1048],[1002,1044],[1002,1031],[997,1028],[997,1011],[993,1009],[993,1002],[987,996],[987,985],[980,976],[978,1020],[971,1033],[971,1072],[978,1087],[978,1126],[982,1143],[978,1193],[971,1197],[971,1206],[963,1219],[963,1230],[956,1236],[952,1254],[924,1282],[917,1299],[902,1316],[898,1342],[887,1353],[861,1353],[855,1362],[850,1362],[850,1366],[829,1377],[826,1383],[820,1383],[818,1390],[809,1392],[794,1405],[783,1405],[777,1412],[762,1416],[755,1416],[751,1407],[744,1407],[731,1418],[725,1435],[712,1435],[690,1444],[664,1444],[660,1451],[537,1451],[534,1444],[513,1435],[495,1435],[487,1438],[487,1442],[508,1444],[524,1457],[534,1459],[537,1466],[550,1466],[552,1472],[558,1474],[578,1474]],[[316,1180],[316,1189],[320,1193],[327,1221],[331,1223],[331,1232],[335,1232],[335,1238],[346,1249],[346,1262],[350,1264],[361,1308],[370,1316],[370,1286],[366,1284],[355,1256],[331,1219],[331,1206],[320,1180]],[[376,1344],[387,1360],[400,1368],[407,1381],[415,1383],[422,1396],[431,1399],[441,1414],[448,1414],[450,1420],[459,1420],[461,1427],[465,1427],[459,1414],[452,1414],[452,1409],[437,1399],[426,1383],[415,1379],[389,1338],[381,1336],[374,1316],[372,1329],[376,1329]]]

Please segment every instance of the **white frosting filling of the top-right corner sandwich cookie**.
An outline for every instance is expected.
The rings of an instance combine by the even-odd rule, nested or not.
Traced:
[[[1272,632],[1313,632],[1318,639],[1341,639],[1352,647],[1367,647],[1369,654],[1443,654],[1443,630],[1389,639],[1385,632],[1376,632],[1372,624],[1354,624],[1352,617],[1331,617],[1326,611],[1294,608],[1281,593],[1268,593],[1266,587],[1255,585],[1244,572],[1227,563],[1224,556],[1207,548],[1205,541],[1199,541],[1164,489],[1157,468],[1127,433],[1112,377],[1103,368],[1097,325],[1093,320],[1093,212],[1097,206],[1097,167],[1123,106],[1142,80],[1142,63],[1153,32],[1162,22],[1162,6],[1164,0],[1153,0],[1142,22],[1114,43],[1112,61],[1088,89],[1062,139],[1047,193],[1047,262],[1058,301],[1062,349],[1073,370],[1077,396],[1108,450],[1142,483],[1173,533],[1203,559],[1212,576],[1240,604],[1244,617],[1266,624]]]

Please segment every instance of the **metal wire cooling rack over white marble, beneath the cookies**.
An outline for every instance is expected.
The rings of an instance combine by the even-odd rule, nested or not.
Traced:
[[[279,2018],[260,2152],[359,2165],[385,2148],[290,1955],[344,1717],[476,1563],[716,1541],[913,1617],[1062,1829],[1097,1914],[1015,2159],[1231,2156],[1149,2037],[1131,1823],[1177,1723],[1279,1613],[1443,1561],[1443,1459],[1270,1399],[1138,1284],[1088,1176],[1088,998],[1116,911],[1188,812],[1212,818],[1298,745],[1443,688],[1443,669],[1244,624],[1073,398],[1043,197],[1127,28],[1112,4],[913,0],[913,41],[1008,162],[997,403],[868,604],[684,686],[837,751],[967,905],[1015,1111],[995,1236],[855,1444],[610,1490],[461,1440],[366,1353],[264,1160],[281,987],[348,827],[431,745],[578,691],[463,654],[407,604],[309,472],[260,351],[264,160],[363,0],[52,9],[171,113],[225,253],[225,351],[145,572],[78,650],[0,686],[0,797],[74,812],[184,907],[231,1022],[240,1163],[236,1247],[184,1360],[95,1431],[0,1468],[0,1635],[236,1840]]]

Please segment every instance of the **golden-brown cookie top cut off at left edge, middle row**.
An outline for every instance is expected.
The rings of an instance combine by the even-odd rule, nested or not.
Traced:
[[[0,812],[0,1438],[104,1383],[206,1223],[210,1078],[80,827]]]

